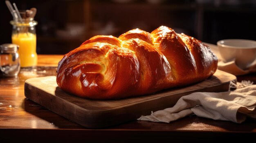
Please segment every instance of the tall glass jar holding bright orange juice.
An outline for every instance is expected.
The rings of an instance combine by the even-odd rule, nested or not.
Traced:
[[[36,53],[36,25],[34,18],[25,18],[20,21],[12,20],[11,41],[17,44],[20,54],[20,67],[33,68],[37,65]]]

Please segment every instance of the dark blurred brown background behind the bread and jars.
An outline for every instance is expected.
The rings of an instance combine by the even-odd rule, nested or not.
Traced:
[[[216,44],[222,39],[256,40],[256,0],[9,0],[35,7],[38,54],[65,54],[94,35],[161,25]],[[0,44],[11,43],[12,20],[0,0]]]

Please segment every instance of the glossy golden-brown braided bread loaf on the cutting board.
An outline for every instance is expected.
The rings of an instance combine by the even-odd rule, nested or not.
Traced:
[[[203,81],[217,62],[201,41],[166,26],[133,29],[118,38],[94,36],[64,55],[56,81],[80,97],[119,99]]]

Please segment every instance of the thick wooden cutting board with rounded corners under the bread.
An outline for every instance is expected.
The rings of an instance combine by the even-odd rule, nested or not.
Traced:
[[[56,84],[56,77],[36,77],[25,81],[25,96],[45,108],[87,128],[103,128],[136,120],[151,111],[172,107],[193,92],[222,92],[236,76],[217,70],[198,84],[162,90],[152,95],[118,100],[90,100],[69,94]]]

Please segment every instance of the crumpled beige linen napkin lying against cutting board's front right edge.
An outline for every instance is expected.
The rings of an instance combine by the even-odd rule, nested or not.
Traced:
[[[152,112],[137,120],[170,123],[190,114],[235,123],[242,123],[247,117],[256,119],[256,85],[244,83],[247,87],[234,91],[195,92],[183,96],[172,108]]]

